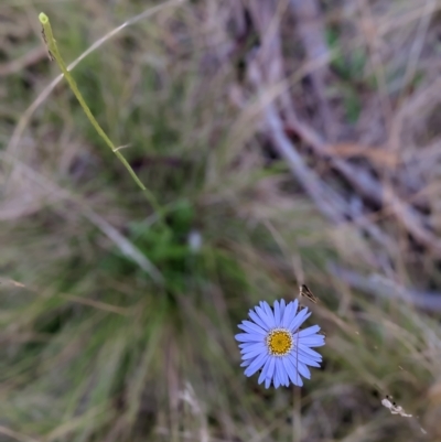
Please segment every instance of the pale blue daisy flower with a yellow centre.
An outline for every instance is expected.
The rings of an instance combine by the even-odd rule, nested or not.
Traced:
[[[324,345],[324,336],[318,334],[319,325],[300,330],[311,316],[306,308],[299,309],[299,301],[275,301],[271,309],[267,302],[249,311],[251,321],[243,321],[238,327],[245,333],[236,335],[241,353],[245,376],[261,369],[259,384],[268,388],[288,387],[290,382],[301,387],[302,377],[310,379],[308,366],[320,367],[322,356],[311,349]]]

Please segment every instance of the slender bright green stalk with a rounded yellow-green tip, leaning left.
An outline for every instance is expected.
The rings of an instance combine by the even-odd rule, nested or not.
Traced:
[[[142,192],[146,194],[147,198],[149,200],[149,203],[152,205],[152,207],[157,211],[159,211],[158,204],[155,202],[154,196],[152,193],[142,184],[141,180],[138,177],[131,165],[127,162],[127,160],[122,157],[121,152],[119,152],[119,148],[116,148],[115,144],[111,142],[110,138],[106,134],[106,132],[101,129],[99,126],[98,121],[92,114],[89,107],[87,106],[86,101],[83,98],[83,95],[80,94],[78,86],[76,85],[76,82],[74,77],[71,75],[71,73],[67,71],[67,66],[64,63],[64,60],[62,58],[58,47],[56,45],[56,41],[54,39],[54,35],[52,33],[52,28],[51,28],[51,22],[49,21],[49,17],[45,13],[40,13],[39,20],[41,24],[43,25],[43,37],[44,41],[47,45],[49,50],[49,55],[51,58],[55,60],[56,63],[58,64],[61,71],[63,72],[64,77],[67,79],[68,85],[71,86],[72,91],[74,93],[75,97],[79,101],[79,105],[82,106],[84,112],[86,114],[87,118],[92,122],[92,126],[96,129],[98,134],[103,138],[103,140],[106,142],[106,144],[111,149],[111,151],[118,157],[119,161],[126,166],[126,169],[129,171],[131,177],[135,180],[135,182],[138,184],[139,187],[141,187]]]

